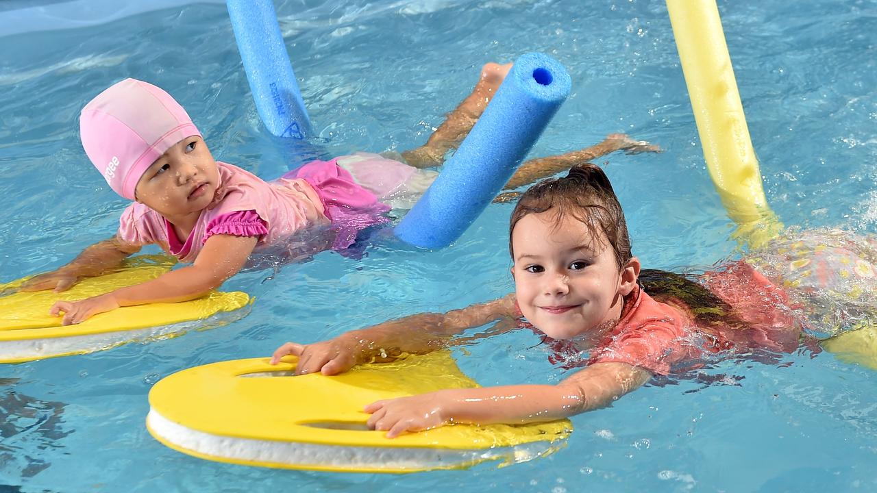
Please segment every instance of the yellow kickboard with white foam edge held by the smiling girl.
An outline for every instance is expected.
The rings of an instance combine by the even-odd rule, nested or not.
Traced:
[[[333,376],[292,376],[295,357],[276,366],[267,361],[223,361],[169,375],[149,392],[147,428],[168,447],[211,461],[396,473],[529,460],[550,454],[572,432],[567,419],[446,425],[396,439],[367,430],[369,415],[362,409],[374,401],[477,387],[446,351]],[[305,447],[306,453],[277,448],[287,445]],[[522,454],[517,446],[530,447],[523,447]],[[433,451],[438,459],[429,456]]]

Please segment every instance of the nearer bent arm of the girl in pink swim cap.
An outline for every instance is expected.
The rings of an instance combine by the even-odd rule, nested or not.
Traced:
[[[120,306],[146,303],[177,303],[202,296],[235,275],[253,253],[258,238],[215,234],[207,239],[191,266],[178,268],[142,284],[116,289],[82,301],[59,301],[49,310],[64,312],[63,325],[78,324],[85,319],[115,310]]]

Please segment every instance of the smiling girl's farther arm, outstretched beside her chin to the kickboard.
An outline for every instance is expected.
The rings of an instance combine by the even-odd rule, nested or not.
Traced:
[[[390,361],[402,353],[424,354],[446,347],[450,336],[500,318],[515,317],[515,296],[473,304],[447,313],[419,313],[367,329],[345,332],[315,344],[287,342],[271,357],[277,364],[287,354],[298,356],[296,375],[336,375],[367,361]]]

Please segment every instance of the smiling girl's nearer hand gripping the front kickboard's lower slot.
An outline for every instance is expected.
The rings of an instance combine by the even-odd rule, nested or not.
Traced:
[[[368,404],[363,411],[372,414],[367,425],[373,430],[387,430],[392,439],[402,432],[420,432],[446,425],[446,398],[441,390],[412,397],[400,397]]]

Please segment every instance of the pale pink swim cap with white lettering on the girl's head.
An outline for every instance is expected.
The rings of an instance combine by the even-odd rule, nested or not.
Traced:
[[[173,97],[148,82],[125,79],[92,99],[79,115],[82,147],[118,195],[134,200],[134,188],[171,146],[201,136]]]

